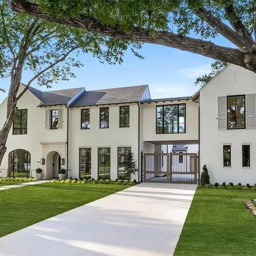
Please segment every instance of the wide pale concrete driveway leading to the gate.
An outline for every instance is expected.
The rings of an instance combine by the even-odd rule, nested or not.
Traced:
[[[143,183],[0,238],[1,256],[170,256],[196,185]]]

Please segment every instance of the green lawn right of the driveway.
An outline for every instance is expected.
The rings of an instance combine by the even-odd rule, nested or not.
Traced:
[[[174,255],[255,255],[256,191],[197,189]]]

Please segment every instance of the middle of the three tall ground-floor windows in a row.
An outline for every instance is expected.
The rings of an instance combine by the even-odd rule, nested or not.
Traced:
[[[110,147],[98,148],[98,178],[110,179]]]

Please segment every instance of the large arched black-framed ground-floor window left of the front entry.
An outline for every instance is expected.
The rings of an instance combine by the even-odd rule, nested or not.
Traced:
[[[17,149],[9,154],[10,177],[30,177],[31,156],[29,151]]]

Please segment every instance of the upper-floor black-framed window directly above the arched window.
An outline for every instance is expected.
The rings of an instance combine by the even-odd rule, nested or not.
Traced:
[[[28,133],[28,110],[18,109],[14,116],[13,134],[27,134]]]

